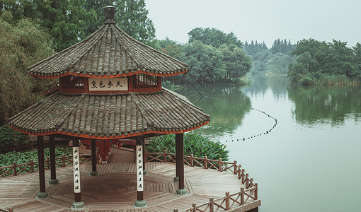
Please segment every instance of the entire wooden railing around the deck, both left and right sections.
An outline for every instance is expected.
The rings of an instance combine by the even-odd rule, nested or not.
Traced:
[[[176,163],[176,154],[167,153],[164,151],[163,153],[146,153],[146,162],[151,161],[159,161],[163,163]],[[97,160],[98,161],[98,160]],[[50,169],[50,159],[47,158],[45,161],[45,169]],[[91,158],[86,158],[81,156],[81,162],[91,162]],[[204,204],[193,204],[192,207],[185,209],[181,212],[205,212],[205,211],[218,211],[222,208],[224,211],[228,211],[234,204],[238,204],[239,206],[246,204],[246,202],[251,199],[258,199],[258,184],[253,182],[253,178],[248,176],[248,173],[245,172],[244,169],[241,169],[241,165],[237,165],[237,162],[233,163],[219,160],[208,159],[207,156],[204,158],[184,156],[184,162],[191,167],[202,167],[204,169],[214,169],[219,172],[229,171],[234,175],[237,175],[238,179],[241,180],[242,184],[245,184],[245,188],[241,188],[240,192],[236,192],[234,194],[229,194],[229,192],[225,193],[225,196],[213,199],[210,198],[210,201],[205,202]],[[72,164],[72,155],[65,156],[62,155],[61,158],[56,158],[55,163],[57,166],[65,167],[67,165]],[[16,164],[13,163],[11,166],[0,167],[0,177],[7,175],[19,175],[25,172],[35,172],[39,170],[38,162],[34,162],[33,160],[30,163]],[[174,212],[178,212],[177,209],[174,209]]]

